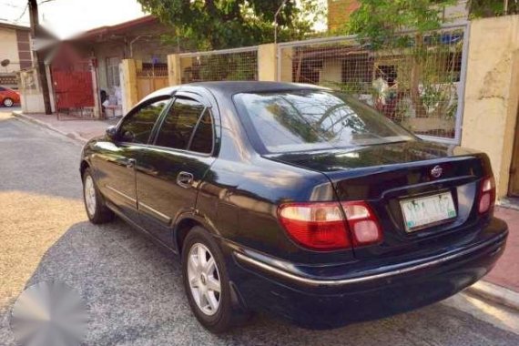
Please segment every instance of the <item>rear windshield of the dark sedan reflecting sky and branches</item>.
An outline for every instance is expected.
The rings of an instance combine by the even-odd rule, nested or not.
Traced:
[[[415,140],[353,97],[327,90],[238,94],[246,127],[266,151],[351,148]],[[248,133],[249,133],[248,128]]]

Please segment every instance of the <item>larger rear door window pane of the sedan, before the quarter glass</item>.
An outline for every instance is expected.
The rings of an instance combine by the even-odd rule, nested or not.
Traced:
[[[189,139],[205,107],[195,100],[177,98],[158,131],[156,145],[187,149]]]

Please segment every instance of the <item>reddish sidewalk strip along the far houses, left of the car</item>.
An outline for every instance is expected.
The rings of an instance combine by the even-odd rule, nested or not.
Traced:
[[[66,137],[79,140],[83,143],[85,143],[88,139],[92,137],[103,135],[107,127],[117,124],[118,121],[118,119],[89,120],[75,119],[74,117],[68,117],[63,120],[58,120],[55,114],[27,115],[23,114],[21,111],[15,111],[13,114],[15,115],[15,117],[21,117],[27,121],[31,121],[42,127],[47,127]]]

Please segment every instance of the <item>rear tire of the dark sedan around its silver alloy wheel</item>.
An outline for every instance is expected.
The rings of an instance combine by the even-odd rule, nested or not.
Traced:
[[[215,262],[215,270],[212,272],[205,271],[207,282],[203,282],[203,276],[198,279],[198,298],[195,297],[196,290],[193,290],[191,287],[190,279],[193,280],[192,274],[193,269],[189,269],[189,267],[193,264],[193,262],[189,263],[192,259],[192,255],[196,251],[196,249],[205,249],[209,252],[206,252],[206,261],[210,262],[210,259],[213,259]],[[203,271],[203,270],[202,270]],[[209,270],[210,271],[210,270]],[[215,276],[218,274],[219,281],[219,297],[218,297],[218,308],[211,309],[212,311],[204,310],[200,307],[200,297],[203,296],[203,293],[200,293],[202,290],[207,290],[205,293],[206,297],[211,296],[209,280],[213,280]],[[202,274],[203,275],[203,274]],[[206,329],[213,333],[221,333],[224,331],[229,331],[229,329],[234,325],[233,319],[236,318],[237,315],[234,314],[232,308],[232,300],[231,300],[231,288],[230,288],[230,280],[228,271],[225,267],[225,261],[223,259],[223,254],[219,249],[218,244],[216,243],[213,236],[209,234],[206,229],[201,227],[194,227],[189,230],[188,236],[184,239],[184,244],[182,246],[182,276],[184,280],[184,288],[186,290],[186,295],[188,296],[189,306],[197,320],[202,324]],[[212,278],[212,279],[209,279]],[[202,288],[202,285],[205,286],[205,289]],[[213,292],[214,293],[214,292]],[[206,298],[206,302],[208,303],[208,308],[212,307],[209,303],[209,300],[212,300],[216,297],[216,293],[212,298]]]

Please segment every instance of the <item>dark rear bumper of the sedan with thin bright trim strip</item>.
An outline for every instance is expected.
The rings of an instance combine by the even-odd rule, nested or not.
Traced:
[[[266,310],[306,328],[326,329],[413,310],[443,300],[480,280],[502,255],[506,224],[493,219],[462,249],[321,277],[286,262],[229,245],[229,275],[251,310]]]

